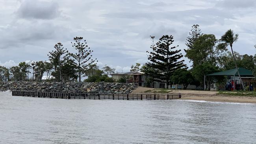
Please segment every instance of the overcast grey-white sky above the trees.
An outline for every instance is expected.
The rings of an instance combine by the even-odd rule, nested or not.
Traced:
[[[193,24],[218,39],[231,28],[234,50],[254,55],[255,15],[255,0],[0,0],[0,65],[45,61],[54,44],[72,51],[81,36],[99,66],[126,72],[147,62],[150,35],[173,35],[183,51]]]

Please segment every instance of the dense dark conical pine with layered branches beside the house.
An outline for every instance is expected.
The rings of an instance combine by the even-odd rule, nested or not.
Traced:
[[[183,57],[179,54],[181,50],[175,50],[177,46],[170,47],[173,42],[172,35],[163,35],[156,43],[156,47],[153,47],[153,51],[147,52],[150,62],[146,65],[157,70],[149,70],[147,75],[156,78],[156,81],[166,81],[167,86],[173,72],[186,66],[184,60],[179,60]]]

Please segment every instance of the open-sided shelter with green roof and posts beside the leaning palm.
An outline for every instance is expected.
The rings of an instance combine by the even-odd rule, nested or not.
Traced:
[[[241,79],[243,80],[243,82],[255,82],[255,76],[252,74],[252,71],[251,70],[247,70],[245,68],[238,68],[238,71],[239,71],[239,74],[241,76]],[[238,72],[237,72],[237,69],[234,68],[234,69],[231,69],[231,70],[225,70],[225,71],[222,71],[222,72],[216,72],[216,73],[213,73],[213,74],[208,74],[206,76],[230,76],[234,78],[234,81],[236,79],[236,77],[238,77]],[[205,89],[205,78],[206,76],[204,76],[204,89]],[[240,79],[239,79],[240,81]],[[240,81],[241,83],[241,81]],[[235,87],[234,87],[234,90],[235,90]]]

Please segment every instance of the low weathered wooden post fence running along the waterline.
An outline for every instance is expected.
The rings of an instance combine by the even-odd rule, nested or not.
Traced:
[[[12,96],[89,100],[173,100],[181,98],[181,94],[96,94],[35,91],[12,91]]]

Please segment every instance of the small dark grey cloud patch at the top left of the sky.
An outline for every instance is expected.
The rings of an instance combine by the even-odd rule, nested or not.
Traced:
[[[20,5],[17,15],[20,18],[52,19],[59,16],[58,4],[39,0],[25,0]]]

